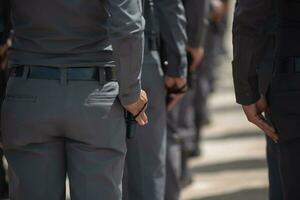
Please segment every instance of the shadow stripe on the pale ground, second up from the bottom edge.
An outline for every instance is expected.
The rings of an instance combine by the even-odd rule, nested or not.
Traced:
[[[257,170],[267,167],[265,159],[236,160],[192,168],[193,173],[216,173],[225,171]]]

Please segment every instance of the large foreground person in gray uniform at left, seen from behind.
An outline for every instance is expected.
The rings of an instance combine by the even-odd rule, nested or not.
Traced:
[[[15,32],[1,113],[10,198],[63,200],[68,174],[73,200],[121,200],[123,107],[147,123],[141,2],[4,2],[0,21],[11,9]]]

